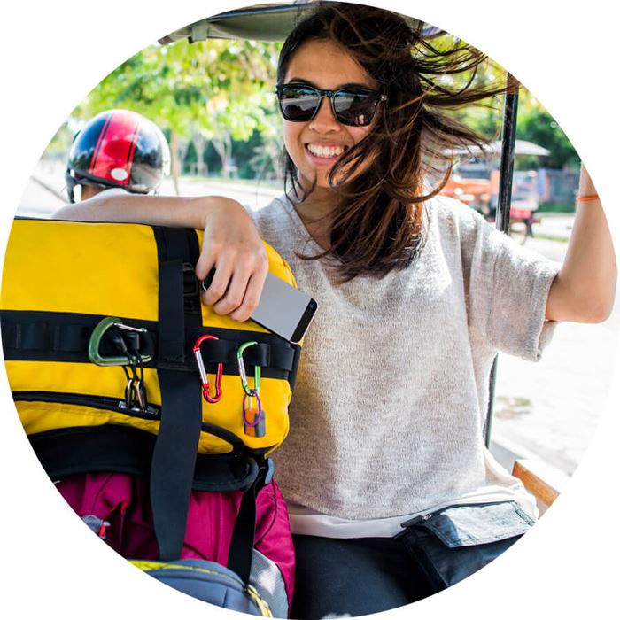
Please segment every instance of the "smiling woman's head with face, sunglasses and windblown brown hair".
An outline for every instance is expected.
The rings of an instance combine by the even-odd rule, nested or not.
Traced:
[[[484,55],[462,43],[434,47],[420,22],[412,27],[388,12],[375,12],[376,24],[348,19],[342,12],[331,22],[302,21],[283,45],[277,72],[287,182],[322,248],[314,258],[337,260],[344,281],[411,264],[423,242],[420,205],[449,175],[446,152],[482,140],[446,111],[505,90],[474,87]],[[448,85],[468,72],[467,88],[458,80]],[[330,94],[329,106],[317,89],[340,97]],[[314,113],[300,116],[302,93],[303,112]],[[424,177],[438,170],[443,182],[425,191]],[[372,208],[377,203],[381,211]]]

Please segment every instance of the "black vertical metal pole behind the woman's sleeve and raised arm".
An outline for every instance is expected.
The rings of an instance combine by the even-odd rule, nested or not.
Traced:
[[[515,168],[516,110],[519,103],[519,90],[515,78],[506,74],[506,86],[515,84],[514,92],[506,93],[504,99],[504,117],[501,130],[500,189],[495,212],[495,228],[508,235],[510,230],[510,198],[512,197],[512,175]],[[493,401],[495,399],[495,377],[497,375],[498,356],[495,356],[489,376],[489,404],[484,422],[484,444],[491,446],[491,429],[493,420]]]

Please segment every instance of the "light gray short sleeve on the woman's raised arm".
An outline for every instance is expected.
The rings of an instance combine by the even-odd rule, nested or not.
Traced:
[[[546,301],[561,265],[482,218],[470,261],[470,329],[492,350],[538,361],[554,331]]]

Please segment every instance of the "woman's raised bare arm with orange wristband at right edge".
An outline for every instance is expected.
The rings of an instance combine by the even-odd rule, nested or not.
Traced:
[[[585,167],[577,196],[595,196]],[[549,291],[546,318],[601,322],[611,314],[616,294],[616,256],[600,200],[577,202],[569,248]]]

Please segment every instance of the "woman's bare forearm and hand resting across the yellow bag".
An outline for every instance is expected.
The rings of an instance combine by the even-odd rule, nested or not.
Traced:
[[[267,277],[267,252],[252,218],[236,200],[221,196],[105,196],[103,191],[54,213],[56,220],[118,221],[204,229],[196,275],[204,279],[216,267],[203,301],[217,314],[246,321],[258,306]]]

